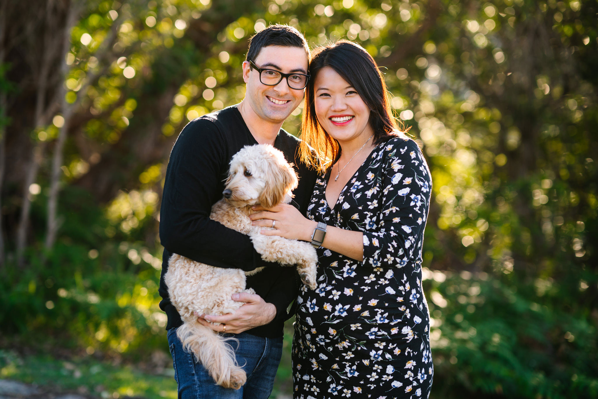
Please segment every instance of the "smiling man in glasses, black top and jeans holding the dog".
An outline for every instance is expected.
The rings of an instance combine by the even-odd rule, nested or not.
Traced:
[[[315,171],[298,159],[298,139],[281,129],[283,121],[303,99],[309,48],[297,29],[273,25],[257,33],[243,62],[245,98],[237,105],[191,121],[170,154],[160,211],[160,240],[164,246],[160,279],[160,308],[166,312],[168,342],[175,367],[179,398],[269,397],[282,354],[286,308],[297,297],[293,267],[261,259],[248,236],[210,220],[213,203],[222,197],[231,157],[245,145],[271,144],[292,162],[300,176],[294,205],[305,214],[315,185]],[[245,365],[247,382],[238,391],[215,385],[201,364],[182,350],[176,327],[182,324],[164,283],[171,254],[216,267],[253,270],[247,287],[256,292],[235,294],[245,304],[224,316],[201,315],[214,330],[239,340],[237,362]],[[204,319],[202,324],[208,325]],[[233,345],[234,346],[234,345]]]

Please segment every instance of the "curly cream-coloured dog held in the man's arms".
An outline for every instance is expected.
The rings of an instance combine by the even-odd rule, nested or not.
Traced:
[[[297,264],[301,280],[316,288],[318,255],[310,243],[280,236],[260,234],[263,227],[251,225],[251,206],[260,203],[271,208],[291,200],[291,190],[297,187],[297,174],[283,154],[271,145],[251,145],[242,148],[230,162],[224,198],[212,206],[210,218],[251,237],[256,251],[266,261],[282,266]],[[260,272],[263,267],[243,272],[208,266],[173,254],[164,276],[170,301],[176,307],[183,325],[176,334],[187,352],[194,354],[217,385],[239,389],[246,382],[243,368],[236,363],[234,350],[226,338],[197,321],[197,314],[224,315],[237,310],[243,303],[233,301],[234,293],[251,293],[245,288],[245,276]]]

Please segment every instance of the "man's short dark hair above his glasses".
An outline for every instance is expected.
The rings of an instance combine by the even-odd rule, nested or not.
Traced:
[[[246,59],[255,61],[261,49],[269,45],[303,48],[309,57],[309,46],[301,32],[289,25],[276,24],[255,33],[249,39],[249,50]]]

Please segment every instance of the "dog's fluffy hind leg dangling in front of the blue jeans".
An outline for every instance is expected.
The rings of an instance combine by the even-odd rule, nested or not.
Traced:
[[[245,384],[245,371],[237,365],[234,350],[228,344],[229,341],[238,343],[237,339],[225,338],[199,322],[185,322],[176,330],[176,334],[183,349],[195,355],[197,362],[208,370],[216,385],[239,389]]]

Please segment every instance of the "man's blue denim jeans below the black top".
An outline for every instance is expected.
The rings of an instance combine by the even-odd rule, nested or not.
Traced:
[[[208,371],[185,352],[176,336],[176,328],[167,333],[170,355],[175,368],[179,398],[182,399],[267,399],[274,386],[274,377],[282,355],[282,337],[264,338],[248,333],[227,334],[239,340],[235,354],[237,364],[247,373],[247,382],[240,389],[216,385]],[[234,348],[234,343],[232,343]]]

